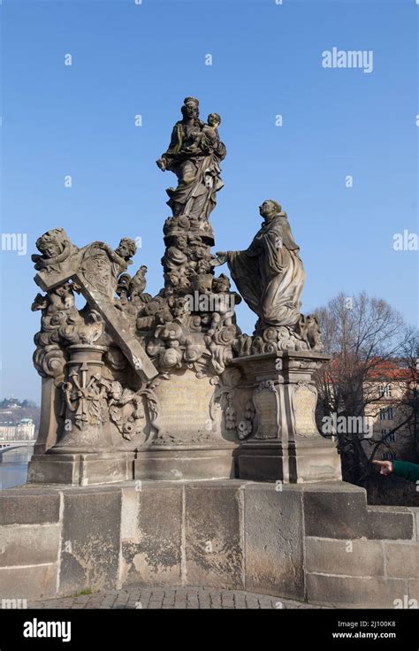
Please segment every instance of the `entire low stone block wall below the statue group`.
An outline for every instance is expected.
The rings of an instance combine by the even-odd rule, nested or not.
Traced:
[[[419,601],[418,559],[419,509],[369,507],[365,491],[341,482],[137,481],[0,493],[0,598],[135,583],[392,609],[396,600]]]

